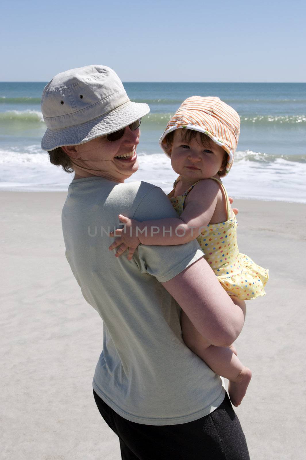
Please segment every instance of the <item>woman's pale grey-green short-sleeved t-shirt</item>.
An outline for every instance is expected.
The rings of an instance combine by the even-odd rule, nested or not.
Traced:
[[[203,257],[196,241],[139,245],[114,256],[107,233],[118,214],[143,221],[177,217],[164,192],[146,182],[73,180],[62,210],[66,257],[85,300],[103,320],[103,350],[93,388],[115,412],[148,425],[210,414],[223,401],[221,378],[185,345],[181,308],[161,282]]]

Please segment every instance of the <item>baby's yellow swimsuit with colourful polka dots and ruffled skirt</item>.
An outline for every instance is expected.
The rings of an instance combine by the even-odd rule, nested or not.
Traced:
[[[255,299],[259,295],[265,295],[264,287],[268,281],[268,270],[255,264],[245,254],[239,253],[237,245],[237,220],[232,213],[228,200],[227,191],[222,182],[214,179],[220,184],[227,201],[227,221],[220,224],[208,224],[198,236],[197,240],[204,252],[205,260],[210,264],[218,277],[221,286],[231,296],[239,299]],[[189,187],[181,196],[173,196],[174,189],[168,195],[172,206],[181,215],[184,209],[186,196],[193,189],[195,184]]]

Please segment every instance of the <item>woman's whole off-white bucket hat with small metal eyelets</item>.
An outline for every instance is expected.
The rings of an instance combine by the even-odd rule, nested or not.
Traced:
[[[53,150],[118,131],[150,109],[130,101],[112,69],[88,65],[52,78],[44,88],[41,111],[47,125],[41,148]]]

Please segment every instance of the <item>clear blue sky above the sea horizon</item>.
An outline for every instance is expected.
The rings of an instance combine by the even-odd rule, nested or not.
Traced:
[[[306,81],[305,1],[4,0],[0,81]],[[215,5],[215,6],[214,6]]]

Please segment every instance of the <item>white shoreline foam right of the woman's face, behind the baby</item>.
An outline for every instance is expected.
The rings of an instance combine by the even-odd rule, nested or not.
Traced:
[[[306,203],[306,163],[265,159],[259,152],[236,152],[235,164],[222,181],[234,198]],[[255,158],[259,161],[254,161]],[[143,180],[169,193],[177,174],[164,154],[139,155],[139,170],[129,180]]]

